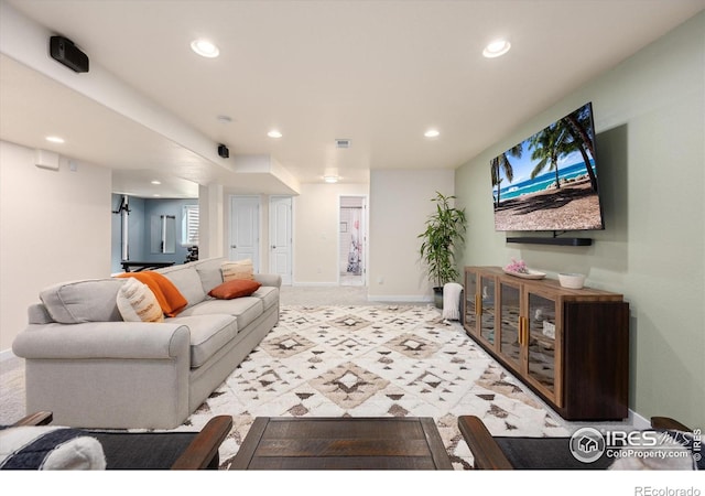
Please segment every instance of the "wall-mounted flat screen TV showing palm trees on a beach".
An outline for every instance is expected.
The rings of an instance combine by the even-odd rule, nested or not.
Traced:
[[[496,230],[603,229],[593,105],[490,161]]]

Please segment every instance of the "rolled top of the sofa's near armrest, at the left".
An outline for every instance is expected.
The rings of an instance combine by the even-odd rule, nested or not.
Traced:
[[[187,326],[169,323],[31,324],[12,351],[28,359],[170,359],[189,356],[189,334]]]

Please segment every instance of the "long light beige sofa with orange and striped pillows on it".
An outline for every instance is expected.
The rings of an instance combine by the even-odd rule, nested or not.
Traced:
[[[84,428],[182,424],[279,321],[279,276],[254,274],[262,285],[249,296],[208,295],[225,261],[159,269],[188,301],[163,323],[122,321],[116,299],[126,279],[42,291],[12,345],[25,359],[28,411]]]

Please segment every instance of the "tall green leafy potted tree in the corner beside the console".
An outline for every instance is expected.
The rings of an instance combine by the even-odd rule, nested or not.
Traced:
[[[455,249],[465,241],[465,208],[452,206],[453,200],[455,196],[445,196],[436,192],[436,196],[431,198],[436,204],[436,211],[429,216],[426,230],[419,235],[419,238],[423,239],[421,259],[429,270],[434,302],[438,309],[443,308],[443,285],[459,278],[455,265]]]

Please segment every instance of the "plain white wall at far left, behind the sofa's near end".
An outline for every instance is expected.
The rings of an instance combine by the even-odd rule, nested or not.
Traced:
[[[41,289],[110,276],[110,170],[62,158],[34,165],[34,150],[0,141],[0,349],[26,326]]]

